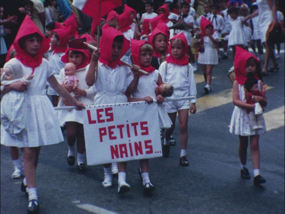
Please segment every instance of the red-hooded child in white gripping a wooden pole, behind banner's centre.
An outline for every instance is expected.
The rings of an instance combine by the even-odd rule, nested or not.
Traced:
[[[102,29],[102,37],[99,48],[91,56],[90,67],[86,75],[86,83],[93,86],[97,92],[94,97],[94,104],[125,103],[128,101],[126,95],[132,94],[137,88],[139,81],[138,65],[133,65],[131,69],[123,65],[120,60],[129,50],[129,41],[124,35],[113,27]],[[100,56],[100,57],[99,57]],[[98,62],[99,58],[99,62]],[[98,66],[98,75],[95,75]],[[132,72],[134,76],[132,76]],[[96,81],[95,81],[96,77]],[[111,164],[104,164],[104,181],[102,186],[110,188],[113,185]],[[118,193],[129,191],[130,186],[126,183],[126,162],[118,162]]]

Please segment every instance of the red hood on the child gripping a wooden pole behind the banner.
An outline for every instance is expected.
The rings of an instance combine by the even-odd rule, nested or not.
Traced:
[[[122,36],[124,38],[123,48],[121,51],[121,55],[117,60],[112,59],[112,49],[113,49],[113,41],[116,36]],[[122,56],[129,50],[130,43],[124,37],[120,31],[117,31],[113,27],[103,28],[102,29],[102,37],[99,43],[99,48],[101,48],[101,55],[99,61],[109,66],[110,68],[115,68],[117,64],[122,65],[123,62],[120,60]]]

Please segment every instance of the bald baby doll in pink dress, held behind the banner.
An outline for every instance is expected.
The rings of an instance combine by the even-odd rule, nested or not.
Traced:
[[[75,71],[76,71],[76,65],[73,64],[72,62],[68,62],[66,63],[65,67],[64,67],[64,79],[62,82],[62,85],[72,85],[72,90],[74,90],[79,82],[79,79],[75,76]],[[72,93],[72,92],[71,92]],[[74,94],[72,93],[72,95],[74,96]],[[69,106],[69,103],[67,102],[67,100],[63,99],[63,102],[66,106]]]

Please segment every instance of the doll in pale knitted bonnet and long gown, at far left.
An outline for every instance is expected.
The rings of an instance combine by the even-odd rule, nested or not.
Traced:
[[[29,85],[34,75],[23,77],[23,68],[20,64],[7,62],[1,75],[1,91],[6,85],[16,81],[23,81]],[[3,80],[3,81],[2,81]],[[22,139],[26,131],[26,117],[28,116],[29,98],[27,92],[12,90],[5,94],[1,101],[1,124],[12,138]]]

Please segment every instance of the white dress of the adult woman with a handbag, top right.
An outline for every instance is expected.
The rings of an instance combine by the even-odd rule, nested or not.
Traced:
[[[268,26],[273,21],[272,11],[269,8],[267,0],[257,0],[258,16],[259,16],[259,30],[261,42],[265,42],[266,32]]]

